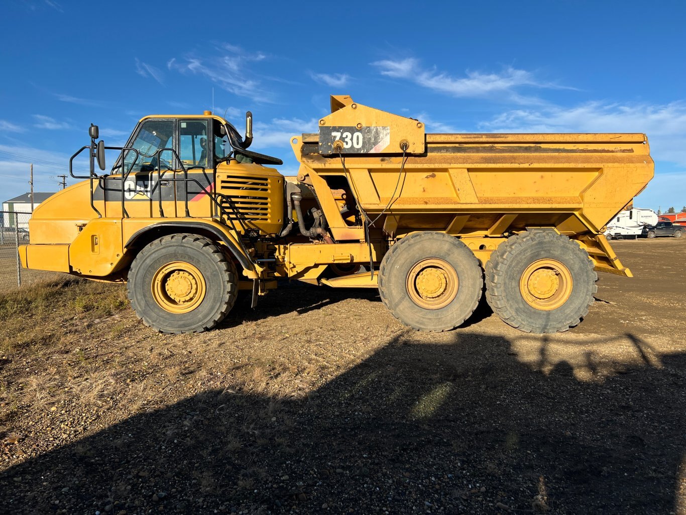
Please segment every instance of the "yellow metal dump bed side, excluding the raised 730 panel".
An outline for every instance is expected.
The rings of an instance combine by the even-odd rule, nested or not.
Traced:
[[[324,157],[315,137],[293,144],[301,178],[345,174],[369,214],[391,203],[386,212],[408,229],[445,230],[461,215],[463,231],[488,231],[513,214],[513,230],[597,233],[653,175],[642,134],[428,134],[426,152],[404,166],[401,156]]]

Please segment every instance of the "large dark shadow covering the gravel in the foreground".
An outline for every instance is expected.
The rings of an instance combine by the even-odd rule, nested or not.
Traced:
[[[596,369],[586,381],[549,341],[450,339],[405,332],[305,398],[244,391],[227,377],[224,389],[6,470],[0,505],[12,514],[684,513],[686,354],[657,356],[659,367],[619,363],[604,378]]]

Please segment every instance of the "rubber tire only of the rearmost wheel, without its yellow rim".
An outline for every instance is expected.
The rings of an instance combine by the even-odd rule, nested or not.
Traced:
[[[521,295],[519,279],[535,262],[550,258],[571,273],[569,299],[551,311],[530,306]],[[587,251],[567,236],[547,229],[533,229],[501,243],[486,263],[486,301],[505,323],[523,332],[563,332],[577,325],[589,312],[598,291],[598,274]]]

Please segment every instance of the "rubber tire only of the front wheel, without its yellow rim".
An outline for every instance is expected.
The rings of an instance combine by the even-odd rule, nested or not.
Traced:
[[[166,263],[185,261],[198,268],[206,284],[200,305],[186,313],[161,308],[152,295],[152,278]],[[128,273],[128,298],[145,325],[159,332],[203,332],[215,327],[233,308],[238,279],[233,260],[217,246],[196,234],[163,236],[147,244],[136,256]]]

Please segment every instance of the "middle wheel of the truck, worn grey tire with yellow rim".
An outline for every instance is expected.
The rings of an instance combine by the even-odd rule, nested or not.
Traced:
[[[379,294],[399,321],[419,331],[458,327],[479,304],[479,261],[458,238],[425,231],[405,236],[383,256]]]

